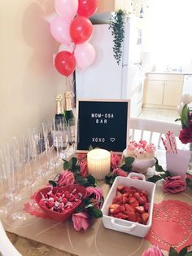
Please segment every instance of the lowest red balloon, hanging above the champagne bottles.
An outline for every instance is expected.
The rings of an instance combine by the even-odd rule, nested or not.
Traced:
[[[60,51],[55,57],[55,68],[63,76],[70,76],[76,68],[76,59],[69,51]]]

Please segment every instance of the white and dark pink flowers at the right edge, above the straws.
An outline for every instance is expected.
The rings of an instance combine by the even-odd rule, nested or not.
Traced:
[[[182,130],[179,139],[181,143],[192,143],[192,112],[188,106],[192,102],[192,95],[185,94],[181,97],[181,104],[177,107],[180,118],[175,121],[181,121]]]

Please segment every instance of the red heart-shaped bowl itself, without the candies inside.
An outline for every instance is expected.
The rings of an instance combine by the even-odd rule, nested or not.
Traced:
[[[72,192],[74,189],[76,188],[76,192],[80,192],[82,194],[82,198],[84,198],[86,196],[86,188],[78,185],[78,184],[72,184],[72,185],[66,185],[63,188],[58,188],[58,187],[54,187],[52,189],[53,194],[56,194],[56,192]],[[79,202],[76,203],[76,205],[74,205],[70,210],[66,210],[64,213],[59,213],[59,212],[55,212],[54,210],[50,210],[48,209],[46,206],[41,205],[40,201],[42,198],[42,195],[46,196],[47,192],[50,191],[50,187],[46,187],[46,188],[41,188],[38,190],[36,196],[35,196],[35,201],[37,202],[37,205],[39,205],[39,207],[45,211],[45,213],[50,217],[53,218],[59,222],[63,222],[66,219],[70,218],[71,215],[75,212],[76,208],[81,205],[81,200]]]

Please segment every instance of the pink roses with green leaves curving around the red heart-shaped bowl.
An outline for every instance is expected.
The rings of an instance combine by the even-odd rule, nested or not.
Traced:
[[[86,230],[91,217],[101,218],[103,216],[100,210],[103,205],[103,191],[98,188],[94,177],[88,174],[86,156],[72,157],[69,161],[63,161],[63,170],[49,183],[53,187],[59,188],[77,183],[86,188],[86,197],[82,199],[82,204],[72,214],[73,227],[76,231],[80,231],[81,228]]]

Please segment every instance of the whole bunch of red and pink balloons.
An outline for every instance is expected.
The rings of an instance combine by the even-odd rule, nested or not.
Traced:
[[[61,43],[55,68],[70,76],[76,64],[87,68],[94,61],[94,46],[87,42],[93,26],[88,19],[98,8],[98,0],[55,0],[57,15],[50,21],[50,33]]]

